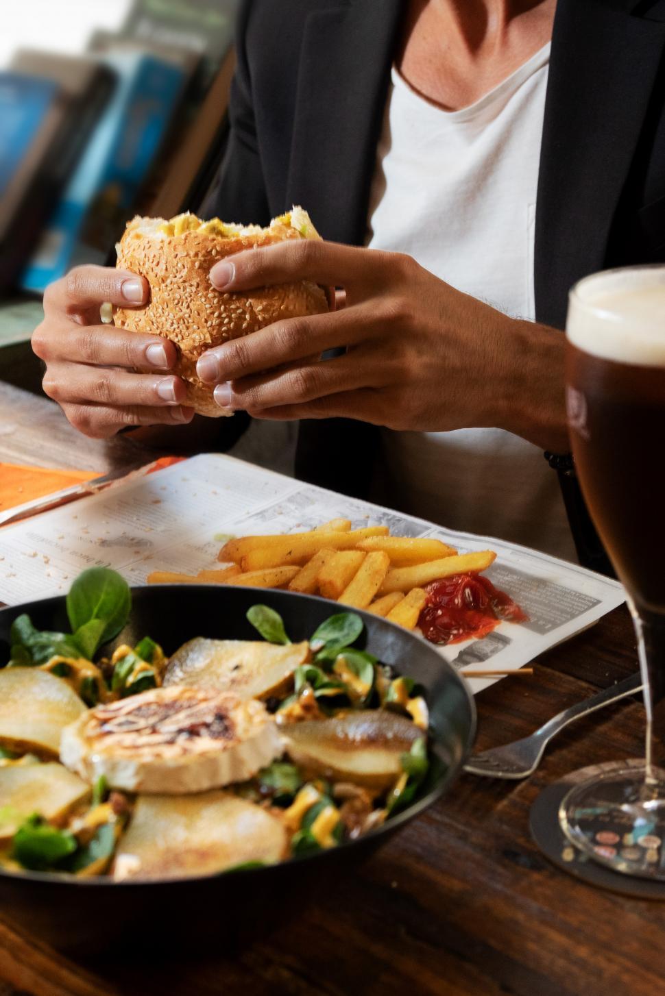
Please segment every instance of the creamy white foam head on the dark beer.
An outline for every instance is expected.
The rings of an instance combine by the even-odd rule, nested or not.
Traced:
[[[603,360],[665,367],[665,266],[585,277],[568,301],[569,342]]]

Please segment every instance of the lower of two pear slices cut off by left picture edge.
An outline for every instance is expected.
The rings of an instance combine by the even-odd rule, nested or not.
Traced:
[[[90,786],[62,764],[14,764],[0,768],[0,844],[33,813],[58,820],[90,796]]]

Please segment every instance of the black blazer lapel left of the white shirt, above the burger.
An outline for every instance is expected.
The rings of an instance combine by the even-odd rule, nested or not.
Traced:
[[[402,0],[350,0],[308,17],[286,202],[324,238],[362,244]]]

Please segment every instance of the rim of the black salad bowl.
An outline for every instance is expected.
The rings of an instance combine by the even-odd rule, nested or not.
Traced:
[[[155,585],[155,586],[132,585],[130,587],[133,594],[134,592],[143,592],[147,590],[152,591],[154,589],[159,589],[159,590],[175,589],[177,591],[196,592],[197,589],[205,588],[205,589],[214,589],[216,591],[224,589],[226,591],[232,590],[234,592],[257,592],[257,593],[261,592],[264,595],[268,596],[271,592],[277,591],[279,592],[280,595],[286,595],[290,598],[295,598],[296,600],[304,599],[307,601],[318,602],[321,605],[325,606],[339,605],[339,603],[331,602],[330,599],[324,599],[318,595],[304,595],[301,592],[288,592],[284,591],[283,589],[252,588],[249,585],[215,585],[213,583],[210,583],[210,584],[200,584],[200,585],[177,585],[177,584]],[[65,595],[52,595],[45,599],[35,599],[32,602],[24,602],[18,606],[6,606],[5,608],[0,609],[0,619],[2,618],[2,616],[8,613],[14,613],[16,615],[20,615],[21,612],[28,612],[31,607],[43,605],[48,602],[53,602],[53,603],[64,602],[65,599],[66,599]],[[374,616],[372,615],[372,613],[368,613],[364,609],[356,609],[348,607],[347,611],[357,613],[363,619],[365,617],[369,617],[373,622],[379,622],[379,624],[391,626],[392,628],[399,630],[400,633],[402,634],[407,633],[410,638],[416,640],[421,645],[426,646],[428,652],[431,653],[437,652],[435,649],[436,644],[430,643],[429,640],[426,640],[424,636],[420,636],[418,633],[412,632],[409,629],[405,629],[404,626],[399,625],[397,622],[388,622],[388,620],[382,617]],[[430,792],[428,792],[426,796],[423,796],[415,803],[412,803],[411,806],[407,807],[407,809],[403,810],[401,813],[398,813],[396,816],[390,817],[389,820],[386,821],[386,823],[382,824],[380,827],[376,827],[374,830],[369,831],[369,833],[363,834],[362,837],[358,837],[353,841],[346,841],[344,844],[338,845],[336,848],[331,848],[325,851],[317,851],[311,855],[301,855],[299,857],[288,858],[286,861],[276,862],[274,865],[262,865],[257,868],[242,868],[242,867],[239,867],[237,869],[231,868],[228,869],[227,871],[214,871],[206,875],[186,875],[186,876],[178,875],[178,876],[156,878],[156,879],[137,878],[137,879],[130,879],[128,881],[114,881],[112,878],[109,878],[108,875],[78,876],[58,871],[8,871],[5,869],[0,869],[0,877],[9,878],[12,881],[24,881],[27,879],[29,881],[36,881],[36,882],[51,882],[53,885],[56,884],[59,886],[67,885],[75,888],[78,887],[112,888],[113,887],[117,889],[120,887],[126,890],[132,890],[132,889],[145,888],[148,885],[153,887],[154,886],[166,887],[166,886],[173,886],[179,884],[184,885],[185,883],[192,883],[192,882],[212,881],[215,879],[223,878],[229,874],[243,875],[243,874],[256,874],[259,872],[274,872],[277,869],[288,869],[293,865],[300,866],[305,863],[313,861],[314,862],[325,861],[330,855],[338,855],[342,852],[350,852],[353,849],[357,850],[359,847],[362,848],[363,846],[369,846],[369,842],[375,841],[378,838],[390,835],[390,833],[399,830],[400,827],[403,827],[405,824],[409,823],[415,817],[420,816],[420,814],[423,813],[426,809],[429,809],[430,806],[434,805],[434,803],[436,803],[438,799],[441,799],[441,797],[444,795],[444,792],[448,789],[449,784],[453,782],[458,776],[458,774],[462,771],[465,761],[471,754],[471,747],[474,743],[474,740],[476,739],[476,732],[478,727],[478,712],[476,709],[476,702],[474,700],[474,695],[471,691],[469,682],[466,680],[464,675],[460,674],[459,671],[456,671],[455,668],[445,659],[445,657],[442,657],[440,654],[437,654],[437,658],[439,662],[442,663],[445,668],[448,668],[451,674],[460,682],[462,690],[464,691],[465,696],[467,698],[467,702],[469,704],[469,709],[471,713],[471,724],[469,731],[468,746],[463,751],[462,756],[460,757],[460,760],[457,762],[457,764],[452,765],[446,771],[445,775],[439,780],[437,785],[435,785],[434,788],[432,788]],[[429,736],[429,731],[428,731],[428,736]]]

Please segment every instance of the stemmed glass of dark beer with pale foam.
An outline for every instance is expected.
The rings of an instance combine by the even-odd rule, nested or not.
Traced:
[[[665,879],[665,266],[581,280],[566,338],[575,468],[635,624],[646,746],[643,760],[590,769],[559,821],[595,861]]]

